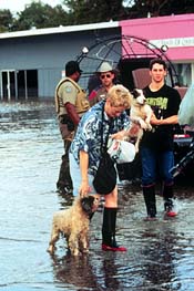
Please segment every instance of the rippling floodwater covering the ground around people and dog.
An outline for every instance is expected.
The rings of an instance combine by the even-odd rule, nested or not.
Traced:
[[[0,290],[193,291],[194,195],[176,187],[178,216],[145,222],[140,186],[120,186],[118,240],[125,253],[101,251],[102,208],[91,222],[90,253],[73,258],[60,240],[47,252],[55,210],[62,142],[52,102],[0,103]]]

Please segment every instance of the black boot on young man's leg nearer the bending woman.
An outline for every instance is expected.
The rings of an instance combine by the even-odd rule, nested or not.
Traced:
[[[147,212],[146,220],[154,220],[156,216],[155,186],[143,187],[143,197]]]

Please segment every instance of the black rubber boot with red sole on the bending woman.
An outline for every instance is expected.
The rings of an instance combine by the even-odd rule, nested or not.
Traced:
[[[118,246],[115,240],[116,212],[118,208],[104,207],[102,225],[102,250],[126,251],[126,248]]]

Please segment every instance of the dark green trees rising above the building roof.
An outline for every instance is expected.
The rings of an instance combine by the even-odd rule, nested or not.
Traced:
[[[33,1],[14,17],[0,10],[0,32],[193,12],[193,0],[61,0],[54,8]]]

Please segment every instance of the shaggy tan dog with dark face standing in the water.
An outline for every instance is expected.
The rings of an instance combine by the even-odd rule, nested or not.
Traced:
[[[99,198],[95,196],[76,197],[69,209],[55,212],[48,251],[54,253],[55,242],[63,235],[72,256],[89,252],[89,224],[98,207]]]

